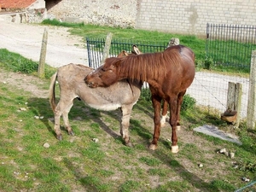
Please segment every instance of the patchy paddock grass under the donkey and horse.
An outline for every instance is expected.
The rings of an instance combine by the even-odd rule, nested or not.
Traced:
[[[40,81],[49,84],[48,79]],[[0,91],[0,189],[3,191],[234,191],[246,184],[241,177],[255,179],[255,131],[245,128],[236,131],[244,143],[242,146],[216,142],[201,134],[191,135],[196,137],[195,143],[180,136],[180,152],[172,154],[171,143],[166,141],[166,137],[171,137],[170,127],[165,127],[158,149],[150,151],[153,119],[148,113],[153,114],[153,108],[142,98],[131,118],[134,148],[127,148],[118,135],[119,129],[117,137],[111,137],[102,129],[104,122],[99,122],[99,118],[107,119],[106,122],[111,122],[109,129],[119,127],[119,111],[105,113],[87,108],[82,114],[84,104],[75,101],[70,113],[75,136],[62,130],[63,141],[59,142],[49,120],[53,112],[46,98],[32,97],[23,90],[17,92],[11,84],[0,84],[0,89],[4,90]],[[207,113],[198,108],[192,112],[193,117],[183,114],[184,134],[189,134],[195,125],[211,123],[212,117]],[[44,115],[44,119],[35,119],[38,114]],[[78,116],[82,119],[78,120]],[[218,125],[226,126],[220,122]],[[94,143],[93,138],[99,142]],[[50,147],[44,148],[44,143]],[[235,151],[236,158],[231,160],[216,154],[218,148]],[[232,166],[233,161],[238,168]],[[199,162],[203,168],[198,167]]]

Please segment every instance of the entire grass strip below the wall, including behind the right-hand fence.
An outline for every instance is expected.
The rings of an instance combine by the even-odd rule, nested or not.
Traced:
[[[120,27],[110,27],[110,26],[98,26],[98,25],[90,25],[84,23],[67,23],[60,22],[58,20],[44,20],[42,22],[43,25],[53,25],[53,26],[67,26],[69,27],[69,32],[73,35],[79,35],[84,38],[106,38],[108,32],[112,32],[114,40],[121,41],[129,41],[134,44],[167,44],[171,38],[179,38],[180,44],[186,45],[189,48],[193,49],[195,52],[195,64],[197,70],[207,69],[214,71],[216,73],[224,73],[224,74],[233,74],[247,77],[249,73],[249,67],[233,67],[227,65],[227,55],[224,55],[224,51],[219,51],[220,46],[218,40],[212,41],[209,44],[216,44],[216,46],[212,46],[211,55],[214,57],[214,61],[212,57],[207,57],[206,53],[206,38],[205,37],[197,37],[195,35],[182,35],[168,32],[157,32],[157,31],[147,31],[133,28],[120,28]],[[221,42],[221,48],[223,50],[230,49],[230,42]],[[255,46],[255,45],[251,45]],[[102,47],[102,46],[101,46]],[[250,63],[250,57],[247,58],[247,61],[244,61],[244,49],[245,45],[241,43],[233,43],[232,47],[236,47],[236,53],[232,52],[232,56],[230,58],[235,63],[239,65],[241,63]],[[247,47],[247,46],[246,46]],[[224,63],[224,65],[223,65]]]

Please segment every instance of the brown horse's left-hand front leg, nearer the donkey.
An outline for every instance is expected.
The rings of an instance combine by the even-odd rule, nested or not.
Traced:
[[[149,149],[155,150],[157,148],[157,142],[160,137],[160,108],[161,98],[159,96],[152,95],[152,102],[154,107],[154,136]]]

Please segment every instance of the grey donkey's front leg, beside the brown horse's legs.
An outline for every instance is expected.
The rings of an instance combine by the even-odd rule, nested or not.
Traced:
[[[130,125],[132,107],[133,105],[125,105],[125,106],[122,106],[121,108],[122,118],[120,122],[120,134],[125,140],[125,145],[128,147],[132,147],[130,137],[129,137],[129,125]]]

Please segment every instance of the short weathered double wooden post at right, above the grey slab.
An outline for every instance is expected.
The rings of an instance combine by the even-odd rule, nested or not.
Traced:
[[[241,93],[242,85],[240,83],[229,82],[227,110],[236,111],[236,127],[239,127],[241,113]]]

